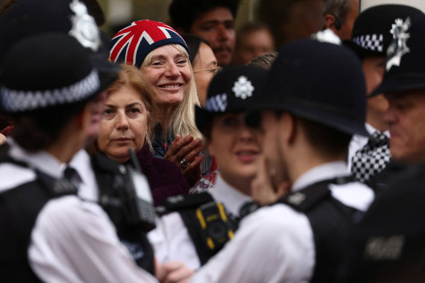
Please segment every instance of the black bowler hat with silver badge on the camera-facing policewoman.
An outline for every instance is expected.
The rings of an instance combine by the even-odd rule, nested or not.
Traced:
[[[261,100],[267,71],[255,66],[224,67],[208,87],[204,108],[195,106],[195,122],[205,130],[216,115],[245,112]]]

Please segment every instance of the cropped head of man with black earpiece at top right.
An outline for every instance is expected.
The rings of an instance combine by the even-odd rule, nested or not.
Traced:
[[[359,0],[325,0],[323,16],[326,28],[341,40],[350,39],[354,20],[359,14]]]

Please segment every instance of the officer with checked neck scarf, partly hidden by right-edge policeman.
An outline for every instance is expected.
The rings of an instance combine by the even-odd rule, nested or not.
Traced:
[[[354,22],[351,40],[344,41],[362,61],[366,80],[366,129],[370,137],[354,135],[348,150],[348,169],[361,182],[371,182],[390,163],[388,123],[383,119],[388,101],[374,90],[381,84],[385,73],[385,54],[393,40],[391,25],[398,19],[423,14],[405,5],[378,5],[363,11]],[[377,21],[376,19],[380,20]],[[397,167],[397,170],[396,170]],[[402,174],[407,168],[391,164],[390,175]],[[384,178],[380,177],[380,183]]]

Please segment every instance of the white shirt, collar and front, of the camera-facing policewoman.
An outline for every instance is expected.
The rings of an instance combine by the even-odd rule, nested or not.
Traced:
[[[252,201],[251,197],[227,184],[219,174],[215,186],[208,192],[234,216],[239,216],[239,209],[245,202]],[[156,228],[147,237],[160,263],[183,261],[192,269],[201,266],[195,245],[179,213],[172,212],[157,219]]]

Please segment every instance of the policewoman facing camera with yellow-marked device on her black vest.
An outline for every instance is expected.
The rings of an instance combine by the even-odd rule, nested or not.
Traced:
[[[232,238],[241,206],[252,201],[250,182],[261,152],[261,137],[245,125],[243,112],[261,97],[265,79],[266,70],[258,67],[225,67],[212,79],[204,108],[196,106],[196,125],[220,169],[207,193],[165,202],[148,234],[160,262],[178,260],[196,269]]]

